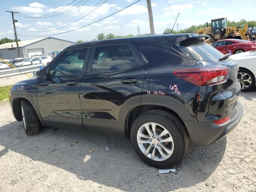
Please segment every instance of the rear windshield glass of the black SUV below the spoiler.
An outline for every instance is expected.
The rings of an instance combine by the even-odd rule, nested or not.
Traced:
[[[202,61],[218,62],[218,60],[224,55],[216,48],[206,43],[198,43],[193,45],[180,44],[179,48],[192,58]]]

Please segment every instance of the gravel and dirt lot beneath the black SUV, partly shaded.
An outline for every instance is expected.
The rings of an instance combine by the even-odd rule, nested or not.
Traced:
[[[50,127],[27,136],[2,102],[0,191],[256,192],[256,92],[240,102],[237,128],[210,146],[190,144],[178,171],[168,174],[142,162],[125,138]]]

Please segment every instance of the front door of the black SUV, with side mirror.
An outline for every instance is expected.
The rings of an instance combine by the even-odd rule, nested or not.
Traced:
[[[38,108],[46,124],[82,126],[79,90],[90,49],[66,50],[46,66],[47,76],[39,79],[36,90]]]

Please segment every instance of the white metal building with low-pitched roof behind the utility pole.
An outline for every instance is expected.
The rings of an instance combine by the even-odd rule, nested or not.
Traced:
[[[39,39],[19,41],[21,57],[30,57],[34,54],[46,54],[50,55],[54,50],[64,49],[74,42],[45,37]],[[0,45],[0,58],[3,59],[14,59],[18,58],[18,49],[16,42],[5,43]]]

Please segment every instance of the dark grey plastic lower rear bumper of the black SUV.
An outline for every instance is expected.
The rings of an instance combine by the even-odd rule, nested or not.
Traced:
[[[213,122],[184,122],[188,130],[190,139],[195,146],[204,146],[217,142],[230,133],[240,122],[243,116],[243,108],[237,102],[236,114],[227,122],[217,125]]]

